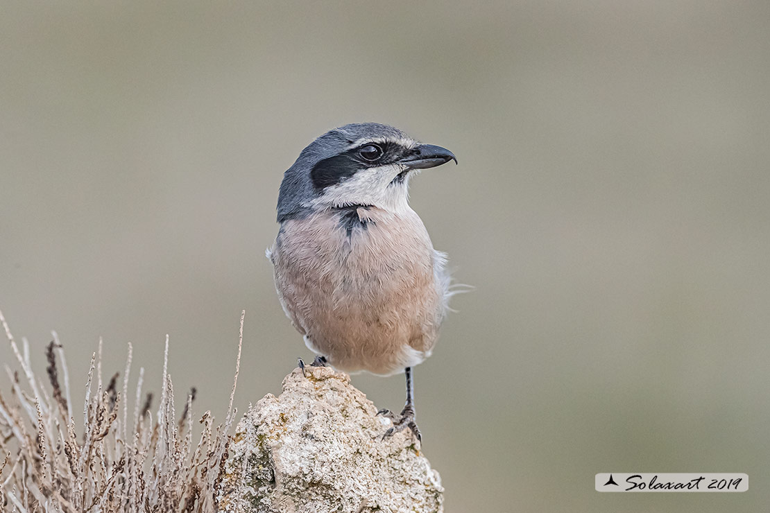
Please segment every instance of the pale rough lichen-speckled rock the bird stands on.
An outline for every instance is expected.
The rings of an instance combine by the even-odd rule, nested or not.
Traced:
[[[228,513],[444,511],[437,471],[409,431],[382,440],[391,421],[350,377],[296,369],[279,397],[249,408],[229,444],[218,491]]]

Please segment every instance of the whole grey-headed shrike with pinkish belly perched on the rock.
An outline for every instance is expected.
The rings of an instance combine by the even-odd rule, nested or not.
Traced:
[[[410,208],[410,178],[457,158],[398,128],[334,128],[286,170],[278,235],[266,252],[280,303],[313,366],[374,375],[403,372],[407,400],[383,439],[417,427],[412,371],[428,358],[452,295],[447,256]],[[299,359],[304,373],[304,362]]]

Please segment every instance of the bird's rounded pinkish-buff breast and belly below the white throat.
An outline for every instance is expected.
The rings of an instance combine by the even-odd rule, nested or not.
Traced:
[[[286,315],[336,368],[388,375],[430,355],[448,279],[413,211],[353,208],[287,220],[271,260]]]

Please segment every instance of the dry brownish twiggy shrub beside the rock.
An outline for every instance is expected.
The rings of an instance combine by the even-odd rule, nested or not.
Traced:
[[[141,368],[131,419],[131,345],[122,387],[117,374],[104,386],[99,341],[99,351],[91,359],[82,432],[78,436],[64,351],[55,333],[46,351],[46,385],[32,372],[26,341],[19,351],[0,312],[0,322],[18,363],[18,369],[5,365],[11,389],[5,394],[0,392],[0,511],[216,511],[215,490],[222,477],[228,432],[236,413],[233,395],[244,315],[242,312],[235,382],[225,423],[215,426],[214,418],[206,411],[200,419],[201,434],[193,445],[191,406],[195,389],[186,396],[182,415],[176,421],[172,382],[167,373],[168,337],[156,414],[151,412],[152,395],[142,398]],[[63,385],[57,360],[61,362]]]

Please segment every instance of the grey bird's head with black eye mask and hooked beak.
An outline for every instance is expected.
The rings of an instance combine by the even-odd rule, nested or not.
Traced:
[[[410,175],[450,160],[457,162],[446,148],[421,144],[391,126],[334,128],[303,149],[283,175],[278,221],[349,205],[406,208]]]

